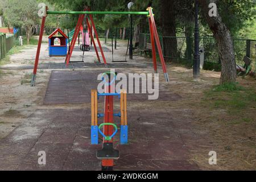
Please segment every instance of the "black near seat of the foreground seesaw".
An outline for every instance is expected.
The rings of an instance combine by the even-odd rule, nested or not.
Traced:
[[[119,159],[119,151],[114,150],[113,143],[104,143],[102,150],[97,151],[98,159]]]

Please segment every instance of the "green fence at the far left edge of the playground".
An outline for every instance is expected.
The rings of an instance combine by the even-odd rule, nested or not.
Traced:
[[[6,34],[0,34],[0,60],[13,48],[14,42],[14,36],[6,38]]]

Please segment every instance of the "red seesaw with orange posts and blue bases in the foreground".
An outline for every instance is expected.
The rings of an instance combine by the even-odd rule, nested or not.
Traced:
[[[114,117],[120,118],[119,144],[128,143],[126,90],[121,90],[120,93],[110,93],[116,73],[108,72],[104,73],[103,76],[108,76],[108,81],[103,78],[105,79],[105,92],[98,93],[97,90],[92,90],[91,144],[100,144],[99,134],[102,136],[102,150],[97,151],[97,158],[102,161],[102,170],[113,170],[114,159],[119,158],[119,151],[114,149],[113,143],[114,137],[118,133],[118,126],[114,123]],[[114,77],[112,81],[110,81],[111,77]],[[98,99],[100,97],[105,97],[104,114],[98,113]],[[119,113],[113,111],[114,97],[118,97],[120,100]],[[100,125],[98,125],[98,118],[104,118],[104,122]]]

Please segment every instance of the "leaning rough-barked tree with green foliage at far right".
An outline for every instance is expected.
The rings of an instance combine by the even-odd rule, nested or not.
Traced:
[[[236,60],[232,36],[238,36],[248,22],[255,22],[253,0],[199,0],[203,17],[218,44],[222,70],[220,84],[236,81]],[[209,3],[216,3],[216,17],[209,16]],[[232,19],[232,20],[231,20]]]

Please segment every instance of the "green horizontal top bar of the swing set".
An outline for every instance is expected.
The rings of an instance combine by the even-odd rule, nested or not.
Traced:
[[[147,11],[47,11],[47,14],[148,15]]]

